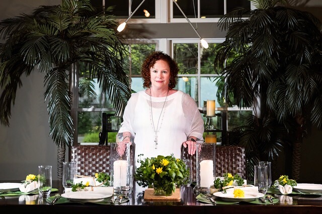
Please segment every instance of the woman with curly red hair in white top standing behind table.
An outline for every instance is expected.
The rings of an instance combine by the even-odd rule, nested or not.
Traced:
[[[142,64],[143,88],[133,93],[123,114],[118,132],[120,141],[135,143],[135,156],[181,157],[181,146],[196,152],[203,142],[204,122],[190,95],[175,90],[178,65],[167,54],[156,51]],[[135,161],[136,162],[136,161]]]

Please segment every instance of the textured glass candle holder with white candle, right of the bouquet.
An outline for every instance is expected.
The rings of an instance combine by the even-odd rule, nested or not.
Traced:
[[[196,174],[197,184],[193,191],[210,193],[214,184],[216,168],[216,143],[197,143]]]

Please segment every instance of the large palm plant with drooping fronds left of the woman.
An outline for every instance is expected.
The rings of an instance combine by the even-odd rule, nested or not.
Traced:
[[[99,10],[90,0],[62,0],[58,6],[40,6],[32,15],[23,14],[0,22],[1,123],[9,126],[11,105],[22,86],[20,77],[37,68],[45,73],[50,135],[58,146],[58,178],[66,145],[73,142],[70,76],[72,66],[82,62],[91,78],[97,78],[103,93],[122,113],[130,96],[123,71],[125,48],[116,35],[118,23],[113,8]]]

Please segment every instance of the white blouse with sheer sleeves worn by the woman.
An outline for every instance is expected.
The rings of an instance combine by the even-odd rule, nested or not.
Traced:
[[[121,125],[118,132],[120,139],[125,131],[131,132],[132,142],[134,137],[136,164],[139,154],[146,158],[173,153],[180,158],[181,145],[189,136],[195,136],[203,142],[204,122],[201,114],[194,99],[182,91],[169,95],[167,100],[166,97],[151,97],[150,100],[144,90],[133,93]],[[154,130],[157,131],[157,146]]]

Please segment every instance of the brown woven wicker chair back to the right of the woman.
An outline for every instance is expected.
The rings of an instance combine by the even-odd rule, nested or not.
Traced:
[[[188,148],[182,146],[181,158],[192,158],[192,180],[196,182],[196,154],[188,154]],[[245,148],[240,146],[216,146],[216,177],[224,173],[239,174],[246,179]]]

